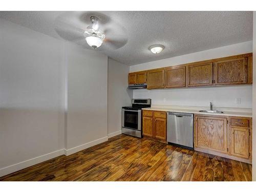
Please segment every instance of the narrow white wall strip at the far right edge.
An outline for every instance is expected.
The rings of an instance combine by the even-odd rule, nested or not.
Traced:
[[[256,11],[253,11],[252,181],[256,181]]]

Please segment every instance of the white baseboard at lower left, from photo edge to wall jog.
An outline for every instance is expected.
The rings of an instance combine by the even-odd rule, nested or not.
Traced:
[[[0,177],[11,174],[13,172],[17,172],[18,170],[30,167],[32,165],[47,161],[49,159],[52,159],[64,154],[65,154],[64,149],[61,149],[55,152],[51,152],[45,155],[41,155],[23,162],[19,162],[19,163],[4,167],[4,168],[0,168]]]

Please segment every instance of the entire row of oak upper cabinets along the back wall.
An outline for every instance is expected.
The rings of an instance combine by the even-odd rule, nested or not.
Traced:
[[[252,84],[252,53],[129,73],[129,84],[147,89]]]

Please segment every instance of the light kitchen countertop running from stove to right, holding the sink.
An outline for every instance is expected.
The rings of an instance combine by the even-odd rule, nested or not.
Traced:
[[[225,109],[227,111],[225,111]],[[209,110],[206,107],[198,106],[152,106],[151,108],[143,108],[142,110],[151,111],[166,111],[166,112],[177,112],[177,113],[193,113],[202,115],[220,115],[220,116],[237,116],[237,117],[252,117],[251,109],[240,109],[240,108],[214,108],[214,110],[223,111],[224,113],[205,113],[199,112],[200,110]]]

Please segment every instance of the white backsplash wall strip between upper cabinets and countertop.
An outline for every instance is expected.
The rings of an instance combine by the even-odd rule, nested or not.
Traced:
[[[252,86],[134,90],[133,98],[151,98],[153,105],[252,108]],[[237,103],[237,98],[241,103]]]

